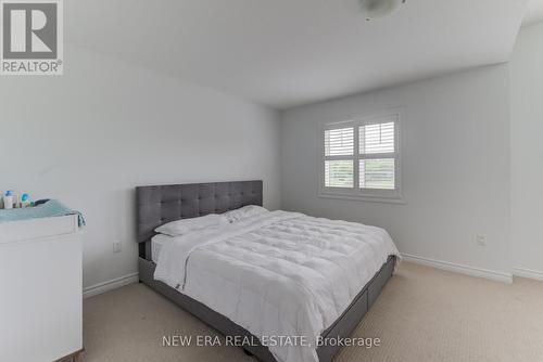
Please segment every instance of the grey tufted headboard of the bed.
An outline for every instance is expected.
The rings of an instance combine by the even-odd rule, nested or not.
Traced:
[[[136,235],[146,243],[163,223],[262,206],[262,181],[187,183],[136,188]]]

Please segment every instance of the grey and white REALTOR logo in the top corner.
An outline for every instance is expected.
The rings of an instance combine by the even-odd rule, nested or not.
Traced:
[[[62,75],[61,0],[0,0],[2,75]]]

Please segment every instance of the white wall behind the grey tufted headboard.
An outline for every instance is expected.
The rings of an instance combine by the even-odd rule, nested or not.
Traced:
[[[62,77],[0,79],[0,190],[85,214],[85,286],[137,271],[136,185],[262,179],[279,207],[276,112],[73,47],[65,60]]]

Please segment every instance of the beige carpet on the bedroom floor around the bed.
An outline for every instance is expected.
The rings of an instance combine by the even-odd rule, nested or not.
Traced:
[[[84,303],[86,362],[254,361],[236,347],[162,347],[164,335],[217,335],[142,284]],[[543,283],[513,285],[404,262],[336,361],[543,361]]]

